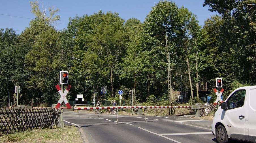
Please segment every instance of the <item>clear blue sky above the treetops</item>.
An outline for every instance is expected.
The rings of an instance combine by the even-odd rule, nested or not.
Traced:
[[[92,15],[99,10],[106,12],[117,12],[119,16],[127,20],[137,18],[143,23],[146,15],[149,14],[152,6],[159,0],[38,0],[40,8],[52,7],[59,8],[55,28],[61,30],[67,27],[69,17],[81,17],[85,14]],[[0,0],[0,28],[13,28],[17,34],[29,27],[29,22],[35,16],[30,12],[29,0]],[[208,6],[203,7],[204,0],[172,0],[178,8],[185,6],[193,14],[197,15],[200,25],[204,25],[204,20],[216,15],[216,12],[209,12]]]

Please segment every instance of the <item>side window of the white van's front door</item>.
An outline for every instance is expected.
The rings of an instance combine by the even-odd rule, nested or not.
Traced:
[[[227,108],[233,109],[244,105],[245,90],[234,92],[227,100]]]

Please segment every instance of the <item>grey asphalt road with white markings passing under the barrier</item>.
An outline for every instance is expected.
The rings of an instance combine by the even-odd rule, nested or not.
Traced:
[[[179,116],[148,116],[95,114],[86,110],[64,112],[64,124],[78,126],[84,142],[216,142],[211,120]]]

